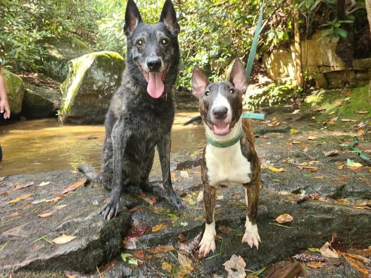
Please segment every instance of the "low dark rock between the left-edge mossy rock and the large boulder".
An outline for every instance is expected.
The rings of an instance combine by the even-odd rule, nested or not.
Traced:
[[[26,86],[22,103],[22,116],[26,118],[54,117],[61,106],[62,94],[58,90]]]

